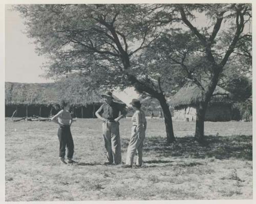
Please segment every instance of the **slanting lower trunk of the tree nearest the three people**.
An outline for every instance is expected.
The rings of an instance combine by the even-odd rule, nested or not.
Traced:
[[[163,95],[161,95],[161,97],[159,97],[157,99],[159,100],[160,105],[163,110],[167,143],[168,144],[173,143],[176,141],[176,139],[174,137],[173,121],[172,121],[172,115],[170,114],[169,106],[166,103],[166,99]]]

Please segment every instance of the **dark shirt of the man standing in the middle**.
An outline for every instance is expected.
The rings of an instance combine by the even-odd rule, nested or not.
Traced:
[[[126,115],[126,109],[124,105],[118,104],[115,101],[109,105],[108,103],[104,102],[99,110],[97,111],[103,118],[108,120],[114,120],[119,116],[119,112],[122,115]]]

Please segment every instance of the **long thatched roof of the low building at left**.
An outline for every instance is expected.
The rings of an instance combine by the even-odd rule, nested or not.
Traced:
[[[67,99],[73,106],[99,105],[103,99],[98,92],[85,92],[82,90],[67,90],[58,83],[5,83],[6,105],[53,105],[61,99]],[[103,92],[103,91],[102,91]],[[125,105],[114,96],[115,101]]]

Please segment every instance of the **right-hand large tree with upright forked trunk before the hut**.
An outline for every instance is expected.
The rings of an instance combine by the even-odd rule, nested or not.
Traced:
[[[175,5],[175,8],[170,5],[169,9],[164,6],[159,12],[162,24],[173,22],[173,16],[176,16],[175,20],[185,25],[179,27],[181,31],[175,35],[176,40],[185,41],[181,43],[183,47],[179,47],[180,43],[175,41],[173,34],[169,38],[164,36],[162,43],[166,45],[165,57],[171,63],[179,64],[186,77],[201,89],[202,101],[197,107],[195,137],[198,141],[204,141],[205,112],[226,63],[232,56],[251,57],[251,49],[247,49],[247,45],[251,47],[248,25],[251,20],[251,5],[183,4]],[[201,20],[204,16],[207,27],[196,25],[198,14]],[[250,64],[251,61],[247,61],[247,65]]]

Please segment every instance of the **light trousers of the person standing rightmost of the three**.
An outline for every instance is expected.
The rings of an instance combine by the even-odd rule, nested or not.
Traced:
[[[145,129],[143,126],[132,126],[132,135],[127,148],[126,164],[133,165],[133,159],[137,151],[136,165],[142,165],[142,146],[145,139]]]

